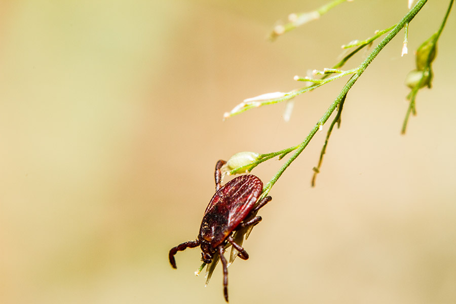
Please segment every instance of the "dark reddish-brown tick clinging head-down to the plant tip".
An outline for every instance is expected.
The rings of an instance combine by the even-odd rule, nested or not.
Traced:
[[[261,216],[254,215],[272,198],[267,196],[255,205],[261,195],[263,182],[252,174],[238,176],[221,186],[220,168],[225,163],[219,160],[215,166],[215,194],[206,207],[196,241],[188,241],[171,248],[169,262],[173,268],[177,268],[174,259],[177,251],[200,246],[201,260],[210,264],[217,252],[223,267],[223,295],[225,301],[228,301],[228,270],[223,256],[224,247],[230,243],[239,251],[240,258],[245,260],[249,258],[245,249],[234,241],[232,234],[239,229],[259,223]]]

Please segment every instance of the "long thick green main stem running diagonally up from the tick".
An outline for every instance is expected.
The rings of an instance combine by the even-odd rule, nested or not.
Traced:
[[[391,32],[375,47],[375,49],[373,49],[369,56],[358,66],[357,72],[353,74],[353,76],[350,78],[347,84],[342,88],[339,95],[332,102],[332,104],[329,106],[329,108],[326,110],[326,112],[320,118],[320,120],[318,120],[317,124],[312,128],[312,130],[309,132],[304,141],[302,141],[298,145],[298,148],[296,149],[295,153],[285,162],[285,164],[283,164],[279,171],[264,186],[261,198],[266,197],[269,194],[271,188],[274,186],[274,184],[277,182],[277,180],[283,174],[283,172],[307,147],[311,139],[314,137],[315,133],[317,133],[317,131],[319,130],[320,126],[326,123],[326,121],[331,116],[332,112],[337,108],[337,106],[340,104],[344,96],[347,95],[348,91],[352,88],[352,86],[355,84],[355,82],[358,80],[361,74],[366,70],[366,68],[369,66],[372,60],[374,60],[378,53],[382,51],[382,49],[394,38],[394,36],[397,35],[397,33],[405,26],[405,24],[410,22],[413,19],[413,17],[415,17],[415,15],[423,8],[426,2],[427,0],[418,0],[415,6],[407,13],[407,15],[405,15],[404,18],[402,18],[402,20],[391,30]]]

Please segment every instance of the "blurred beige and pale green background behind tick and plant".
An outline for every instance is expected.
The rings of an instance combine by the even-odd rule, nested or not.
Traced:
[[[0,302],[223,303],[204,288],[198,234],[213,168],[243,150],[300,143],[345,80],[222,122],[243,99],[300,87],[340,45],[396,23],[406,1],[355,1],[275,43],[278,19],[326,1],[0,3]],[[447,1],[410,24],[409,49]],[[326,135],[271,191],[230,267],[232,303],[451,303],[456,300],[456,18],[407,134],[403,34],[350,91],[317,186]],[[347,67],[356,66],[362,55]],[[365,55],[365,54],[364,54]],[[253,173],[268,181],[283,161]]]

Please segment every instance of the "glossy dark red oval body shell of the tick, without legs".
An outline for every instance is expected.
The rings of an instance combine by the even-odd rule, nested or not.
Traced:
[[[263,189],[255,175],[242,175],[222,186],[204,212],[199,240],[216,248],[236,229],[253,209]]]

